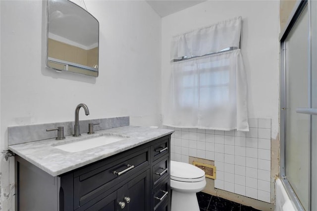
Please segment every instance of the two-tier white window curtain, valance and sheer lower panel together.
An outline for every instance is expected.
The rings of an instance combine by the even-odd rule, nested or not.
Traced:
[[[218,27],[220,25],[228,27]],[[199,47],[193,44],[192,46],[195,48],[187,48],[189,51],[183,53],[191,53],[185,56],[189,58],[193,56],[193,49],[196,49],[196,52],[203,49],[200,51],[201,53],[210,53],[210,51],[218,51],[219,49],[239,47],[239,42],[235,46],[232,46],[232,42],[235,42],[238,37],[240,39],[241,17],[223,21],[212,27],[215,27],[215,32],[212,32],[210,36],[214,35],[212,38],[214,42],[221,40],[221,44],[207,42],[207,46],[211,46],[211,48],[205,47],[201,41],[209,41],[209,39],[201,39],[201,33],[198,32],[202,32],[202,29],[199,29],[196,33],[191,32],[196,34],[196,38],[193,38],[195,36],[191,37],[192,40],[200,40],[197,42]],[[207,28],[210,30],[210,27]],[[218,31],[218,28],[221,30]],[[229,36],[230,33],[227,32],[234,32],[235,37]],[[186,37],[187,34],[180,37]],[[205,34],[205,37],[208,37],[208,33]],[[181,51],[175,51],[175,49],[184,49],[181,47],[184,42],[175,47],[174,41],[175,39],[173,39],[171,46],[173,59],[176,58],[175,56],[177,58],[184,56],[183,53],[179,53]],[[189,42],[187,39],[185,43],[193,42]],[[204,47],[202,48],[202,46]],[[214,47],[218,49],[215,50]],[[178,53],[175,54],[175,52]],[[166,103],[163,106],[163,125],[249,131],[247,83],[240,49],[173,62],[171,66],[170,84]]]

